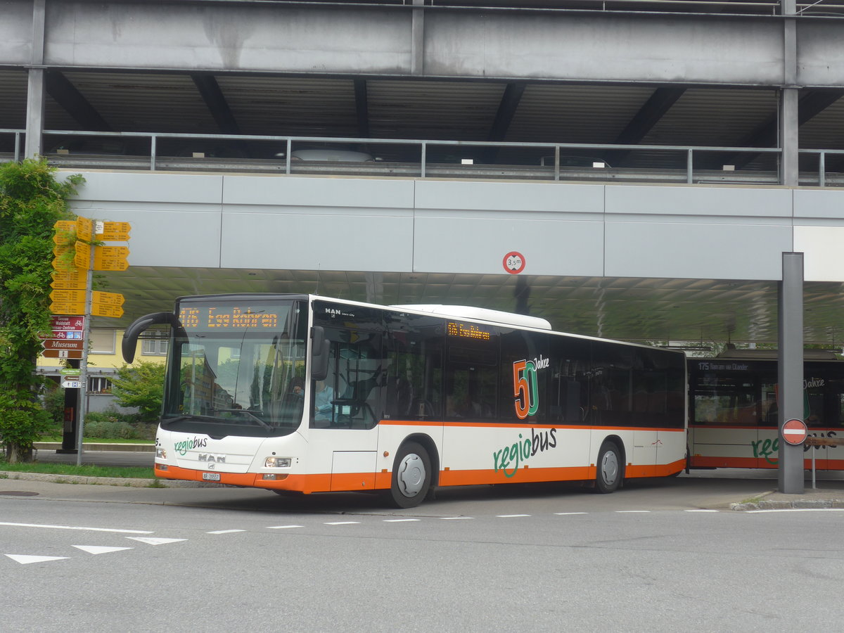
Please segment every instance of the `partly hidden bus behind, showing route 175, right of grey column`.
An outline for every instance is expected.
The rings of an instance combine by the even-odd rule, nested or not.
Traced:
[[[806,350],[803,419],[809,435],[844,437],[844,363]],[[777,468],[776,350],[689,360],[690,468]],[[844,469],[844,446],[803,446],[803,468]]]

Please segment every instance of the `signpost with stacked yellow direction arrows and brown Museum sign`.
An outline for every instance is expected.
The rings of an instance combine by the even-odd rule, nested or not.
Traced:
[[[54,225],[50,309],[56,315],[85,315],[95,317],[123,316],[123,295],[116,292],[101,292],[91,288],[93,271],[121,271],[129,268],[127,257],[129,249],[126,246],[105,246],[104,241],[128,241],[132,227],[128,222],[103,222],[89,218],[77,218],[75,221],[61,220]],[[81,396],[66,396],[65,406],[76,411],[78,409],[77,424],[70,421],[70,428],[76,436],[68,431],[62,440],[62,450],[69,449],[75,439],[78,442],[77,465],[82,464],[82,437],[85,417],[85,390],[87,389],[88,347],[85,344],[90,336],[90,319],[84,317],[54,317],[78,318],[84,321],[84,332],[81,338],[68,342],[66,340],[47,339],[44,344],[43,355],[51,358],[66,359],[79,371],[78,381],[68,383],[68,389],[82,389]],[[73,359],[78,359],[73,360]],[[70,394],[72,392],[68,392]],[[78,403],[78,407],[76,406]]]

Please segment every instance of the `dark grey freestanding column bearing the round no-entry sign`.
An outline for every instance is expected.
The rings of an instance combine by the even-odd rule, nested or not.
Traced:
[[[779,287],[780,408],[778,426],[780,492],[803,494],[803,445],[783,441],[782,425],[789,419],[803,419],[803,253],[782,253],[782,282]]]

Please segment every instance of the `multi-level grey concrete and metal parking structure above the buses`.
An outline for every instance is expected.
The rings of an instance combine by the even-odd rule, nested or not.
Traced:
[[[81,171],[74,210],[133,224],[127,318],[318,290],[770,341],[800,251],[806,340],[841,343],[834,3],[0,8],[0,151]],[[380,160],[295,160],[314,148]]]

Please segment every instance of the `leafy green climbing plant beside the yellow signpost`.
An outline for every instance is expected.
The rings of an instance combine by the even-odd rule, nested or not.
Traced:
[[[30,461],[49,421],[36,392],[39,334],[50,332],[53,225],[84,181],[57,181],[46,160],[0,165],[0,440],[9,462]]]

